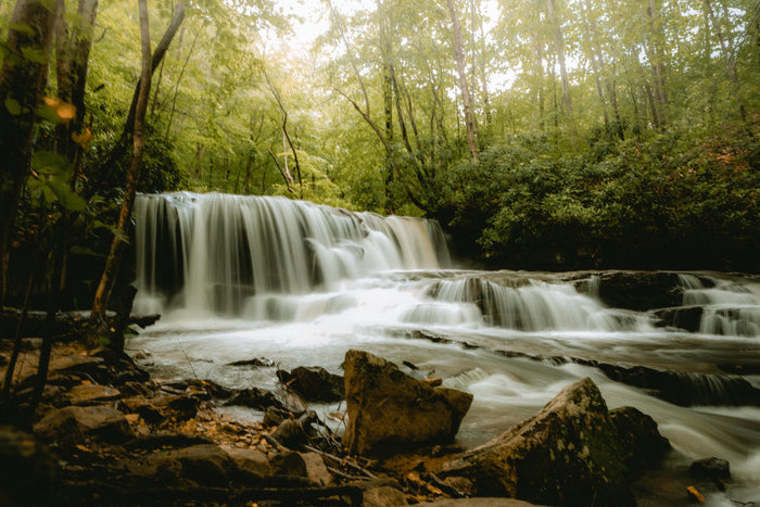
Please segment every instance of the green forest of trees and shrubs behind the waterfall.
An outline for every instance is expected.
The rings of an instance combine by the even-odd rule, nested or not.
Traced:
[[[39,12],[15,23],[20,5]],[[147,12],[140,191],[428,216],[461,258],[505,268],[758,270],[756,0],[151,0]],[[53,254],[29,252],[48,243],[100,258],[131,160],[138,1],[5,1],[0,22],[0,123],[29,127],[27,162],[3,169],[4,188],[21,185],[18,206],[3,203],[3,269],[11,253],[42,264]],[[14,68],[39,81],[30,98],[9,88]]]

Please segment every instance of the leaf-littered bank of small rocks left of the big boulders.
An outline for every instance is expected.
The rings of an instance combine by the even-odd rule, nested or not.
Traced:
[[[8,344],[0,342],[3,359]],[[22,398],[38,346],[24,340]],[[259,410],[262,421],[218,410],[236,405]],[[126,355],[76,342],[53,348],[33,430],[3,426],[0,442],[0,459],[13,464],[1,477],[7,505],[384,506],[467,496],[436,474],[465,451],[456,444],[349,456],[293,393],[150,378]],[[650,467],[633,491],[639,505],[686,505],[689,485],[715,487],[683,469]]]

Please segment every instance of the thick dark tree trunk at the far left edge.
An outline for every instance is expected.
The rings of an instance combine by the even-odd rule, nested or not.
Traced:
[[[11,237],[31,161],[35,110],[45,88],[54,13],[39,0],[17,0],[0,71],[0,307],[5,302]],[[25,30],[24,27],[31,29]],[[39,61],[25,54],[39,54]]]

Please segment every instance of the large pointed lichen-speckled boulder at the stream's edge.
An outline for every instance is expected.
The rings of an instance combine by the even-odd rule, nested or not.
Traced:
[[[479,496],[537,504],[633,506],[618,432],[588,378],[565,388],[537,415],[444,464]]]

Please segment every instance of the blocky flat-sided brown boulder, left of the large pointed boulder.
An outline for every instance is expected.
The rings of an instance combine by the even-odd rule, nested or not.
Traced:
[[[349,423],[343,445],[354,454],[389,454],[454,440],[472,394],[431,388],[363,351],[345,355]]]

